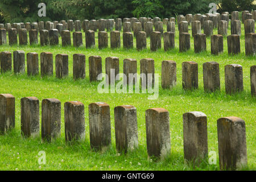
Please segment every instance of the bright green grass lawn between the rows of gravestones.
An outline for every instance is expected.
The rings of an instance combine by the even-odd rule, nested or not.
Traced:
[[[243,24],[241,25],[243,30]],[[164,27],[166,30],[166,27]],[[189,26],[191,28],[191,26]],[[191,30],[189,30],[191,33]],[[55,56],[66,53],[69,56],[69,76],[58,79],[53,76],[43,77],[14,75],[12,72],[0,75],[0,93],[10,93],[15,97],[15,129],[7,135],[0,136],[0,170],[218,170],[218,139],[217,119],[221,117],[236,116],[246,123],[246,144],[248,166],[244,169],[256,169],[256,98],[250,93],[250,67],[256,64],[255,57],[245,56],[245,36],[242,31],[240,38],[241,53],[234,56],[228,55],[226,37],[224,37],[224,53],[218,56],[210,54],[210,38],[207,38],[207,52],[194,53],[193,38],[191,35],[191,50],[179,52],[179,35],[176,26],[175,49],[165,52],[162,48],[156,52],[150,51],[150,38],[147,38],[147,49],[137,51],[134,38],[134,48],[123,50],[122,33],[121,48],[98,49],[97,32],[96,47],[85,48],[85,34],[83,46],[0,46],[0,51],[23,50],[28,52],[52,52],[53,65]],[[217,34],[215,29],[213,34]],[[230,35],[230,26],[229,32]],[[110,34],[108,32],[108,38]],[[60,38],[61,44],[61,38]],[[86,56],[86,77],[84,80],[74,81],[72,77],[72,57],[75,53],[83,53]],[[102,72],[105,73],[105,58],[115,56],[119,58],[120,72],[122,73],[123,59],[133,58],[139,60],[152,58],[155,61],[155,73],[161,74],[163,60],[174,60],[177,64],[177,85],[172,89],[162,89],[159,78],[159,97],[156,100],[148,100],[149,94],[100,94],[97,92],[98,82],[89,81],[88,57],[98,55],[102,57]],[[39,56],[40,61],[40,56]],[[199,65],[199,89],[185,91],[181,82],[181,63],[195,61]],[[214,93],[205,93],[203,85],[203,63],[216,61],[220,64],[221,90]],[[39,62],[40,63],[40,62]],[[243,92],[228,95],[225,93],[224,66],[228,64],[241,64],[243,69]],[[40,64],[39,64],[40,66]],[[40,70],[40,68],[39,68]],[[61,101],[61,137],[52,143],[42,143],[41,137],[24,139],[20,135],[20,99],[22,97],[35,96],[40,101],[40,114],[42,100],[45,98],[57,98]],[[64,102],[80,101],[85,105],[85,135],[84,142],[75,144],[65,143],[64,134]],[[112,145],[105,152],[90,150],[89,142],[89,118],[88,105],[92,102],[106,102],[110,105]],[[115,150],[114,134],[114,107],[119,105],[133,105],[137,108],[139,147],[126,155],[118,154]],[[152,107],[163,107],[170,113],[171,154],[164,160],[151,161],[147,157],[145,111]],[[199,167],[193,168],[184,164],[183,153],[183,118],[182,115],[189,111],[201,111],[207,115],[208,127],[208,154],[216,152],[216,164],[208,161]],[[38,152],[46,152],[46,164],[38,163]],[[210,156],[209,156],[210,157]]]

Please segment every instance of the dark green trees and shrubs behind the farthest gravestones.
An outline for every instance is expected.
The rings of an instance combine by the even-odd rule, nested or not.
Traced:
[[[170,18],[176,14],[205,14],[209,3],[219,11],[252,10],[254,0],[1,0],[0,22],[99,19],[125,17]],[[46,3],[46,17],[38,16],[38,4]]]

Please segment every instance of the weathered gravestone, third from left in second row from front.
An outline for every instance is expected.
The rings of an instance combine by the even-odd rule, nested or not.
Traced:
[[[39,73],[39,64],[38,64],[38,53],[28,52],[27,53],[27,75],[35,76]]]

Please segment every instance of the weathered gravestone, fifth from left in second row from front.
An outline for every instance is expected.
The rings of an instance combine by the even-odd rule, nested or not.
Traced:
[[[56,77],[68,77],[68,55],[61,53],[55,59]]]

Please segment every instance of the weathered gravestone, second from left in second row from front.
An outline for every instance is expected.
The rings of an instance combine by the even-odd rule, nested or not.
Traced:
[[[14,69],[14,73],[23,74],[25,72],[25,52],[24,51],[13,52],[13,69]]]

